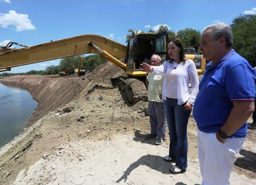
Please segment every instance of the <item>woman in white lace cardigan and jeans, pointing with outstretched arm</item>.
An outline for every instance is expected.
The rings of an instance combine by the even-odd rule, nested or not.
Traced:
[[[176,160],[170,171],[181,173],[188,167],[188,118],[198,93],[199,80],[195,63],[185,57],[179,39],[171,39],[167,43],[167,51],[170,60],[161,66],[150,66],[143,62],[140,69],[148,73],[164,74],[162,99],[169,128],[170,148],[169,155],[163,159],[168,162]]]

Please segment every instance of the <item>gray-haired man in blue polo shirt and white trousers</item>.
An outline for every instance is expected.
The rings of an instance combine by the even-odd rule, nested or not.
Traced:
[[[254,111],[255,74],[232,49],[232,29],[225,23],[204,28],[199,50],[211,61],[199,84],[193,116],[203,185],[230,184],[235,154]]]

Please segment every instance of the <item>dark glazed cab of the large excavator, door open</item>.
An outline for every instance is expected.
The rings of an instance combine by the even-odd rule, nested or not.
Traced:
[[[140,64],[150,64],[153,54],[161,57],[162,61],[167,59],[166,43],[168,42],[167,32],[139,33],[128,42],[126,53],[126,70],[141,71]]]

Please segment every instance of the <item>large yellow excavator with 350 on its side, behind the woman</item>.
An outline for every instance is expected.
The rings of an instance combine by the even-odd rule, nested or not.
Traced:
[[[159,55],[162,61],[166,61],[167,42],[167,32],[139,33],[128,41],[127,46],[100,35],[80,35],[35,46],[10,42],[6,46],[0,46],[0,72],[11,71],[11,68],[16,66],[93,53],[100,54],[101,57],[123,69],[127,76],[145,79],[147,73],[140,70],[140,63],[149,64],[153,54]],[[11,49],[13,44],[24,48]],[[197,72],[204,73],[205,59],[202,55],[196,55],[194,48],[185,48],[185,54],[195,62]],[[120,59],[124,59],[124,62]],[[125,91],[130,102],[147,100],[147,89],[144,84],[141,85],[141,81],[112,78],[111,82]]]

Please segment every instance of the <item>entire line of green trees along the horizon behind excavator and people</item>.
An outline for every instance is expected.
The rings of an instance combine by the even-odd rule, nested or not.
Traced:
[[[256,66],[256,15],[239,15],[232,20],[230,25],[233,30],[233,48],[241,56],[246,58],[252,67]],[[148,30],[148,33],[159,33],[166,31],[168,33],[169,39],[179,38],[184,47],[195,48],[196,54],[201,54],[198,47],[200,45],[201,32],[192,28],[185,28],[179,30],[175,33],[172,30],[169,30],[167,26],[161,25],[158,30]],[[142,31],[143,32],[143,31]],[[126,35],[126,43],[130,38],[134,37],[139,33],[139,30],[129,29],[128,34]],[[144,32],[143,32],[144,33]],[[67,67],[78,68],[78,62],[80,56],[73,56],[60,59],[60,64],[58,66],[49,66],[45,70],[31,70],[27,73],[2,73],[1,76],[14,76],[14,75],[50,75],[58,74],[61,71],[65,71]],[[91,71],[95,69],[100,64],[106,62],[106,59],[101,58],[98,54],[89,55],[83,57],[83,66],[86,69]]]

